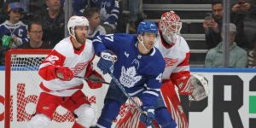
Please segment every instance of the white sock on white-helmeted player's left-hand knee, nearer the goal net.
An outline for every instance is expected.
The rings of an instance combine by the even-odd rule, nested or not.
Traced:
[[[44,114],[36,114],[26,125],[26,128],[47,128],[50,119]]]

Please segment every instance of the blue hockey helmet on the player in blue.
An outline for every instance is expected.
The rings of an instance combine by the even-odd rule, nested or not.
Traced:
[[[142,21],[137,26],[137,34],[142,34],[143,32],[158,34],[158,27],[154,22]]]

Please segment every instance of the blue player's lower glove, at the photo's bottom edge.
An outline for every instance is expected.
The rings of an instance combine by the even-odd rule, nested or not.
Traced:
[[[150,126],[154,120],[154,109],[148,109],[140,116],[140,121],[145,125]]]

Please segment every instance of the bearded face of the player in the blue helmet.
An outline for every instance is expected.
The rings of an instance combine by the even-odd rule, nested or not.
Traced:
[[[156,35],[154,33],[143,33],[144,45],[147,49],[153,49],[155,43]]]

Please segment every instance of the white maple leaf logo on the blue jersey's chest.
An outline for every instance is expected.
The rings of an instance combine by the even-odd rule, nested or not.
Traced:
[[[125,67],[122,67],[122,72],[120,76],[120,83],[123,84],[127,88],[133,87],[137,84],[138,81],[142,79],[142,76],[136,76],[137,71],[135,67],[129,67],[125,70]]]

